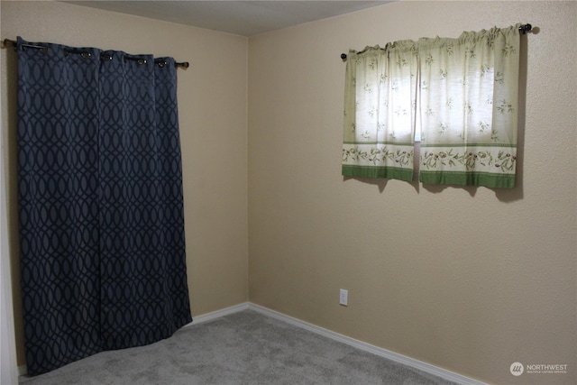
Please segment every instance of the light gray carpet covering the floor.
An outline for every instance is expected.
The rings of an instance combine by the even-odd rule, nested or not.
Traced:
[[[20,383],[453,384],[253,310],[191,325],[156,344],[98,353]]]

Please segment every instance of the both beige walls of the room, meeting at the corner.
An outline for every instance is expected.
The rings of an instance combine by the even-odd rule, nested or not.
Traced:
[[[250,289],[256,304],[475,379],[574,383],[576,5],[401,2],[247,40],[2,1],[0,37],[190,61],[179,106],[193,316],[242,303]],[[517,22],[539,28],[526,40],[517,188],[343,180],[341,52]],[[0,55],[17,277],[15,59]],[[341,288],[349,307],[338,305]],[[515,361],[571,372],[514,378]]]

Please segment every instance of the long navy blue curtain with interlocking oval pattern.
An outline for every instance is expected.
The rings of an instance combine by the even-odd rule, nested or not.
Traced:
[[[192,318],[174,60],[20,38],[17,50],[23,322],[35,375],[154,343]]]

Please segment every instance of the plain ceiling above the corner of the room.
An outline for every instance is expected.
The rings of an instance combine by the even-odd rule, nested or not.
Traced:
[[[66,1],[242,36],[348,14],[388,1]]]

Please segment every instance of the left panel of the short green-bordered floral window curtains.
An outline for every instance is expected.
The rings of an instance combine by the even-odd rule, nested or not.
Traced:
[[[416,44],[350,50],[347,58],[343,176],[412,180]]]

